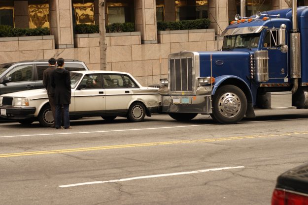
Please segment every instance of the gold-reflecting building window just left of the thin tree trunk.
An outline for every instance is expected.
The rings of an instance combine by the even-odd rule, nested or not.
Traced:
[[[72,3],[74,24],[95,24],[94,1],[74,0]]]

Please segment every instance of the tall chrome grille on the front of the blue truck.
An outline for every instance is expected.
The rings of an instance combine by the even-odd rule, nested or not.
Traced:
[[[170,59],[170,90],[193,91],[193,59]]]

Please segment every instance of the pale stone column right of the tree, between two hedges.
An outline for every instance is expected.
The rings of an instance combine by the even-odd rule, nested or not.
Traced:
[[[135,0],[136,31],[141,32],[141,43],[157,43],[156,1]]]

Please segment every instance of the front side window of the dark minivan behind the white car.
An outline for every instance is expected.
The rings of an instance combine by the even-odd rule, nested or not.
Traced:
[[[33,80],[33,65],[20,65],[13,68],[5,77],[11,77],[11,82]]]

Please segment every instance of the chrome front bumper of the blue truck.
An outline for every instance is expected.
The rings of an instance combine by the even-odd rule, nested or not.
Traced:
[[[210,95],[162,95],[165,113],[211,114]]]

